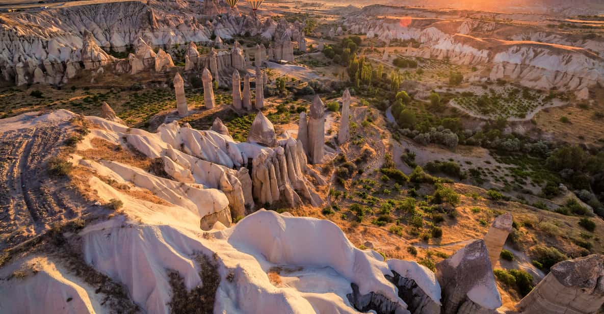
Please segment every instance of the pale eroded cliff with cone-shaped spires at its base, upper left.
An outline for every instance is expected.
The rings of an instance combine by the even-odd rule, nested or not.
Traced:
[[[263,23],[239,14],[200,19],[200,12],[214,12],[214,5],[204,5],[202,1],[111,2],[3,16],[0,77],[18,85],[33,83],[34,78],[36,83],[61,85],[77,75],[80,62],[93,70],[113,65],[117,74],[134,75],[150,68],[164,72],[172,66],[172,58],[165,51],[154,53],[153,47],[175,45],[188,45],[185,71],[200,71],[210,68],[210,64],[206,57],[199,56],[195,43],[209,44],[212,34],[231,39],[249,32],[267,40],[275,34],[276,25],[271,19]],[[291,30],[291,25],[285,22],[284,30]],[[135,46],[135,53],[123,60],[105,52],[126,51],[131,46]],[[245,69],[240,45],[230,53],[220,51],[217,59],[219,73],[212,74],[221,86],[230,84],[233,68]]]

